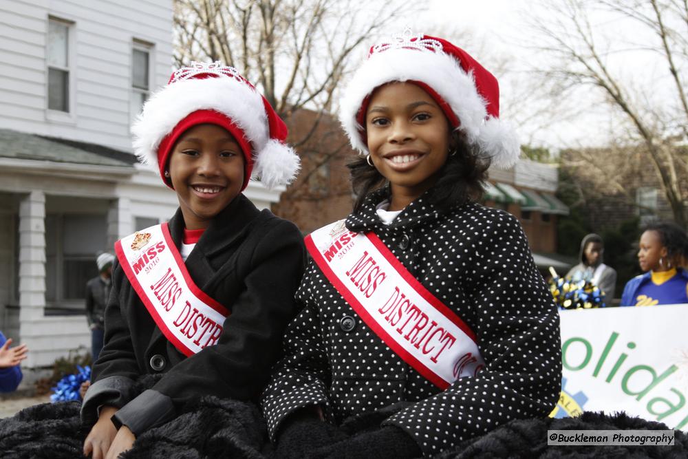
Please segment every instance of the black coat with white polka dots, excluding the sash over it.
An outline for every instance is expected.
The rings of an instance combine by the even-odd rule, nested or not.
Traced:
[[[288,414],[309,405],[341,423],[416,402],[383,425],[404,429],[428,456],[508,420],[547,416],[561,385],[559,314],[516,218],[479,204],[442,215],[421,197],[386,226],[375,213],[382,199],[374,193],[347,228],[374,231],[458,314],[477,335],[486,367],[439,389],[358,318],[311,260],[297,292],[303,309],[262,399],[272,440]],[[345,316],[355,318],[352,330]]]

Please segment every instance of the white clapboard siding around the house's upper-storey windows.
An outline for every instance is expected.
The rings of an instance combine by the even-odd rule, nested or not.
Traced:
[[[69,116],[47,110],[49,16],[74,23]],[[133,39],[154,45],[151,88],[164,85],[171,72],[171,25],[171,0],[1,1],[0,127],[131,151]]]

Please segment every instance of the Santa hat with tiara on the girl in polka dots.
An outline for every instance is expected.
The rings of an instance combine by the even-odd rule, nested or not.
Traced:
[[[400,36],[370,48],[340,100],[339,119],[354,149],[368,154],[365,112],[372,92],[393,81],[424,89],[444,111],[454,129],[496,167],[511,167],[520,144],[508,122],[499,119],[497,78],[467,52],[427,35]]]

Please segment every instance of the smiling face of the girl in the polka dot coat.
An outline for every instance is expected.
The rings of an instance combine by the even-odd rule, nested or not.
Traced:
[[[375,90],[365,116],[368,151],[391,184],[390,211],[427,191],[449,154],[449,121],[435,100],[413,83]]]

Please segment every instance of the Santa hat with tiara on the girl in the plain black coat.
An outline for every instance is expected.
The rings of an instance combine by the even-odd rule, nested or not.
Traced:
[[[234,67],[219,62],[180,68],[147,100],[131,127],[134,152],[142,162],[158,164],[171,187],[164,171],[176,140],[205,123],[224,127],[239,142],[246,159],[242,190],[252,175],[273,188],[299,172],[299,157],[284,143],[288,130],[283,120]]]

